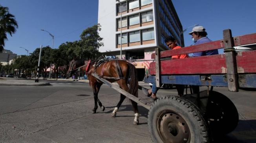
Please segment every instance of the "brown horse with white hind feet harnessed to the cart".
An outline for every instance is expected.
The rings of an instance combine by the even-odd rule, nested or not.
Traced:
[[[123,60],[110,60],[105,61],[104,63],[97,65],[96,61],[90,62],[89,60],[72,60],[69,64],[69,69],[67,73],[67,77],[70,77],[72,73],[79,69],[85,71],[87,73],[88,80],[90,81],[90,86],[93,89],[93,96],[94,96],[94,108],[92,109],[93,113],[96,113],[98,105],[102,106],[101,101],[98,98],[99,89],[103,84],[100,80],[96,79],[91,75],[91,73],[97,73],[100,77],[110,81],[110,82],[117,82],[123,90],[127,91],[128,93],[138,97],[138,79],[135,66],[133,64],[128,63],[127,61]],[[126,97],[121,94],[120,100],[116,105],[115,109],[112,112],[112,116],[115,117],[117,110],[121,106],[122,102]],[[132,100],[131,100],[132,101]],[[137,125],[139,123],[139,111],[138,105],[136,102],[132,101],[133,110],[135,113],[135,118],[133,124]]]

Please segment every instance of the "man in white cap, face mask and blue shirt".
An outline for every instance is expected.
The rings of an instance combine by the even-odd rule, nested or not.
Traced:
[[[194,45],[199,45],[199,44],[203,44],[203,43],[212,41],[207,37],[207,32],[205,31],[205,28],[202,26],[194,27],[192,29],[192,31],[188,34],[192,35],[192,39],[194,38],[194,40],[193,40]],[[193,56],[199,57],[199,56],[203,56],[203,55],[216,55],[216,54],[219,54],[218,49],[208,50],[208,51],[203,51],[203,52],[196,52],[196,53],[193,53]]]

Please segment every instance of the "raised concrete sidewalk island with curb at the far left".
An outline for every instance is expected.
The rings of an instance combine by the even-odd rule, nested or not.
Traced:
[[[41,79],[42,80],[42,79]],[[49,82],[35,82],[35,79],[16,79],[1,77],[0,86],[50,86]]]

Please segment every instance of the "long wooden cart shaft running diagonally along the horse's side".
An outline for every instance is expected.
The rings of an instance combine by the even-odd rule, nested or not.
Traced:
[[[96,73],[91,73],[91,75],[93,75],[93,77],[95,77],[96,79],[102,81],[103,83],[107,84],[108,86],[110,86],[111,88],[115,89],[116,91],[118,91],[119,93],[123,94],[124,96],[126,96],[127,98],[133,100],[134,102],[138,103],[139,105],[145,107],[146,109],[150,109],[149,105],[143,104],[142,102],[139,101],[139,98],[135,97],[134,95],[124,91],[123,89],[119,88],[119,86],[116,86],[114,84],[112,84],[111,82],[109,82],[106,79],[102,79],[101,77],[99,77],[99,75],[97,75]]]

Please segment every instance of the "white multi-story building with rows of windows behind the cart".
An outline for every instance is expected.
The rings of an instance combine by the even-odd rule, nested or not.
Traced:
[[[155,48],[168,50],[164,42],[167,36],[173,36],[178,45],[184,46],[183,28],[171,0],[120,1],[99,0],[99,34],[104,43],[99,51],[104,55],[116,59],[151,60]],[[145,72],[147,74],[150,62],[134,62],[142,77]]]

